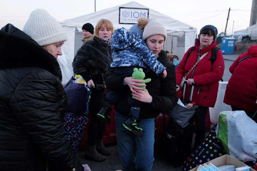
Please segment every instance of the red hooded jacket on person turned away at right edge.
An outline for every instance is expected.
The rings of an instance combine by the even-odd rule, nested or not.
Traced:
[[[253,56],[237,63],[247,56]],[[257,45],[240,55],[230,66],[232,76],[228,82],[224,103],[245,111],[257,110]]]

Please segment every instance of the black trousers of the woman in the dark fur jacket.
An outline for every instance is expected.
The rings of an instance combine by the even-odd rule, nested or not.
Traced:
[[[97,113],[101,110],[105,102],[103,91],[104,90],[92,89],[91,99],[89,102],[91,120],[87,135],[88,146],[94,146],[97,139],[102,139],[105,131],[105,123],[102,123],[97,117]]]

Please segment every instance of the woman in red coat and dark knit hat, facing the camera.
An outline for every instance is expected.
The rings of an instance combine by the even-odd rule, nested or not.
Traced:
[[[192,85],[195,82],[192,102],[195,102],[199,106],[199,110],[196,112],[195,116],[195,129],[196,137],[194,143],[194,149],[204,140],[206,123],[205,117],[207,114],[208,107],[214,107],[217,93],[219,80],[221,80],[224,73],[224,60],[221,50],[218,50],[216,55],[216,60],[211,63],[211,53],[212,49],[216,48],[215,37],[217,35],[217,28],[212,25],[206,25],[200,30],[199,39],[196,40],[194,45],[194,50],[188,57],[188,49],[181,62],[176,68],[176,84],[177,87],[184,76],[187,75],[188,85]],[[193,47],[192,47],[193,48]],[[196,65],[195,68],[192,67],[196,62],[205,55]],[[192,69],[192,70],[191,70]],[[191,72],[190,72],[191,70]],[[186,86],[185,100],[189,100],[191,86]],[[182,91],[182,90],[180,90]],[[181,92],[180,92],[181,93]]]

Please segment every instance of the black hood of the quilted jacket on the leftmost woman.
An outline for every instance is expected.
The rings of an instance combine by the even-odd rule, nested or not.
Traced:
[[[37,67],[62,80],[61,68],[53,55],[29,35],[7,24],[0,31],[0,69]]]

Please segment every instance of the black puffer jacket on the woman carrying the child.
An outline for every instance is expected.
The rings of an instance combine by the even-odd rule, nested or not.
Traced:
[[[157,76],[151,70],[144,70],[145,78],[151,78],[149,83],[146,83],[146,89],[152,96],[152,103],[144,103],[140,109],[139,118],[154,118],[159,115],[160,112],[171,110],[175,107],[178,97],[176,94],[176,73],[175,66],[168,63],[166,53],[161,51],[159,53],[158,61],[160,61],[167,69],[166,78],[162,78],[162,74]],[[130,107],[127,103],[127,93],[130,91],[128,86],[123,85],[124,76],[118,76],[113,73],[113,69],[110,68],[105,74],[105,84],[108,89],[113,91],[121,91],[122,98],[119,103],[115,105],[115,110],[121,114],[128,115]]]

